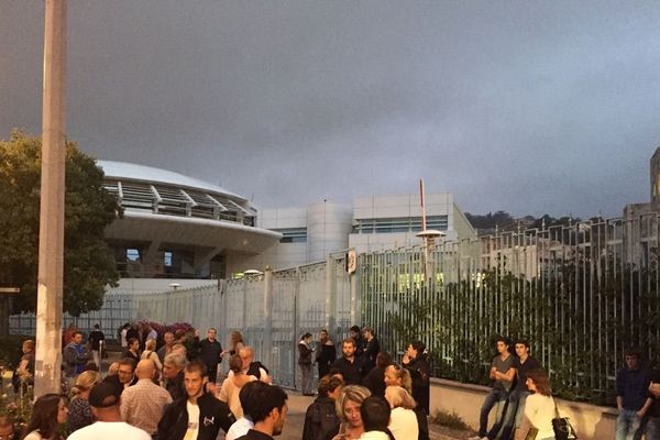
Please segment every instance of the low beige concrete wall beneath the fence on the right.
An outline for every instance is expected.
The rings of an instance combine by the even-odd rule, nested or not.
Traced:
[[[457,413],[464,422],[479,429],[479,414],[488,387],[462,384],[440,378],[431,380],[431,414],[437,409]],[[557,399],[562,417],[569,417],[580,440],[614,438],[616,410],[614,408]],[[491,411],[492,426],[495,408]]]

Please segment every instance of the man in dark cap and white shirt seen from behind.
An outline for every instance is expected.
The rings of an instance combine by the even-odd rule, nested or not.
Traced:
[[[108,383],[95,385],[89,393],[89,406],[96,422],[72,433],[70,440],[152,440],[142,429],[135,428],[121,419],[119,411],[120,397],[117,389]]]

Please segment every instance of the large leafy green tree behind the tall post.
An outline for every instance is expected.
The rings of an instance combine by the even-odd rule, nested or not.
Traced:
[[[0,284],[21,288],[22,311],[36,306],[40,179],[41,140],[14,130],[0,141]],[[106,286],[119,280],[103,230],[122,210],[102,183],[95,160],[67,142],[64,310],[74,316],[101,308]]]

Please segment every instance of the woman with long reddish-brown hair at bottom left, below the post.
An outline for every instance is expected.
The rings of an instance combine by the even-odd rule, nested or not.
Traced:
[[[66,424],[68,409],[58,394],[45,394],[32,407],[23,440],[62,440],[59,427]]]

